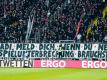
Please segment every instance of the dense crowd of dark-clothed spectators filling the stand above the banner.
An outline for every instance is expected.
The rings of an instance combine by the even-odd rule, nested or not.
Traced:
[[[103,42],[107,35],[107,17],[102,17],[105,6],[102,0],[0,0],[0,42],[25,42],[33,13],[29,42]],[[91,32],[87,33],[89,25]]]

